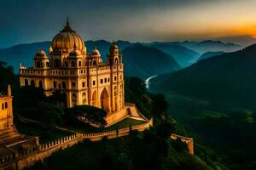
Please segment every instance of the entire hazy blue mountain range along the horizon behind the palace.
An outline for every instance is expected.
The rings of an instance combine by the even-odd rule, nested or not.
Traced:
[[[98,41],[86,41],[84,42],[87,48],[87,53],[93,48],[98,48],[102,54],[103,61],[106,61],[106,54],[108,53],[108,49],[111,45],[111,42],[105,40],[98,40]],[[199,51],[204,50],[207,51],[208,49],[216,48],[218,51],[222,48],[218,47],[226,47],[231,49],[230,47],[238,48],[239,45],[228,43],[225,44],[224,42],[213,42],[213,41],[205,41],[205,42],[149,42],[149,43],[140,43],[140,42],[128,42],[128,41],[117,41],[119,45],[119,51],[122,52],[125,48],[124,54],[124,61],[125,66],[127,68],[133,67],[132,70],[127,69],[127,75],[136,76],[138,75],[141,78],[145,78],[148,76],[154,76],[155,74],[166,73],[166,71],[176,71],[177,68],[186,67],[195,63],[195,61],[200,57],[197,51],[193,49],[189,49],[190,47],[201,47]],[[207,44],[207,45],[206,45]],[[212,46],[211,46],[212,44]],[[218,45],[217,45],[218,44]],[[143,48],[143,46],[148,48]],[[33,42],[33,43],[25,43],[25,44],[18,44],[10,48],[3,48],[0,49],[0,60],[7,62],[8,65],[13,65],[15,68],[15,72],[18,72],[19,64],[23,64],[25,66],[32,65],[32,59],[34,54],[37,53],[39,49],[44,49],[47,53],[49,51],[50,42]],[[187,47],[185,47],[187,46]],[[139,49],[142,48],[142,49]],[[133,52],[129,52],[129,50],[135,50],[135,54]],[[153,55],[146,52],[146,49],[149,49],[148,52],[153,53]],[[138,59],[132,60],[134,57],[131,56],[134,54],[135,56],[139,56]],[[125,56],[127,55],[127,56]],[[148,58],[150,56],[150,58]],[[163,65],[160,65],[160,62],[166,60],[167,56],[170,58]],[[126,59],[129,57],[129,59]],[[153,59],[155,58],[155,59]],[[151,59],[147,60],[148,67],[152,70],[152,74],[149,74],[148,68],[145,65],[142,65],[139,59]],[[140,65],[139,65],[140,63]],[[173,66],[173,68],[172,68]],[[143,70],[142,70],[143,68]],[[159,70],[159,71],[157,71]],[[137,74],[135,74],[137,72]]]

